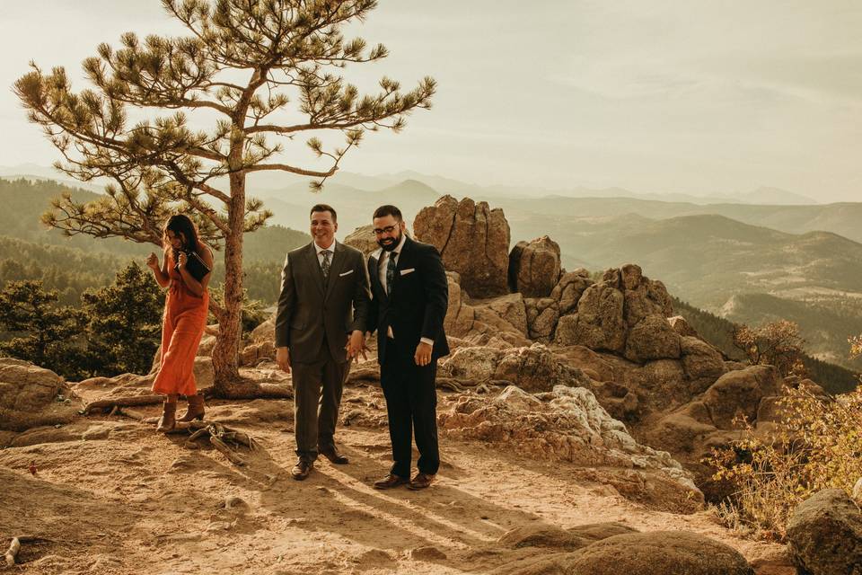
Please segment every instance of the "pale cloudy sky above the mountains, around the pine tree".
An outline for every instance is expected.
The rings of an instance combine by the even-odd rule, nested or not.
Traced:
[[[99,43],[180,32],[158,0],[4,3],[0,19],[5,166],[58,158],[11,90],[29,60],[65,66],[80,89]],[[343,74],[365,89],[431,75],[438,92],[432,110],[400,134],[369,134],[341,169],[860,201],[859,30],[857,0],[381,0],[348,32],[390,56]],[[313,166],[303,148],[291,154]]]

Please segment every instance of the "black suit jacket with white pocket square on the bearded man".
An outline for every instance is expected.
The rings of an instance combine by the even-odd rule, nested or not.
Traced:
[[[434,341],[432,358],[449,355],[449,343],[443,329],[449,305],[449,284],[440,252],[433,245],[405,238],[398,256],[395,279],[386,294],[380,282],[378,261],[382,250],[368,258],[368,275],[374,296],[368,313],[367,331],[377,330],[377,357],[386,357],[388,328],[395,340],[404,342],[399,349],[413,357],[419,340]]]

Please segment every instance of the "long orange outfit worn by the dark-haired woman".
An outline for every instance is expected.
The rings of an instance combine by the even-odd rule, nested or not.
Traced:
[[[170,255],[167,261],[171,285],[164,300],[162,360],[153,391],[156,394],[194,395],[198,393],[195,356],[207,326],[209,292],[205,289],[202,297],[191,293],[182,282],[180,272],[174,270]]]

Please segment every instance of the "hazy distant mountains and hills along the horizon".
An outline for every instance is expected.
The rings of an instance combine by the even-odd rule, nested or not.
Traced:
[[[264,184],[279,181],[270,178],[253,185],[250,182],[249,192],[264,199],[265,206],[274,212],[271,224],[303,232],[308,228],[312,205],[329,203],[339,212],[339,237],[343,238],[357,226],[371,223],[374,208],[381,204],[399,206],[412,221],[419,209],[441,196],[427,181],[389,180],[400,175],[421,176],[409,173],[371,178],[341,173],[327,181],[318,194],[310,192],[305,181],[266,188]],[[460,183],[444,178],[433,181],[444,189]],[[0,214],[6,234],[30,241],[40,241],[34,234],[45,234],[37,231],[38,223],[24,220],[38,218],[48,206],[48,191],[56,186],[52,188],[48,182],[34,186],[39,192],[26,198],[0,193],[0,201],[7,208],[6,217]],[[563,264],[569,270],[638,263],[647,276],[662,279],[674,295],[734,321],[756,324],[778,317],[796,318],[817,358],[862,368],[862,361],[847,358],[847,337],[862,332],[862,229],[858,226],[862,204],[698,204],[562,195],[517,198],[514,190],[504,191],[510,193],[471,197],[486,199],[491,208],[503,208],[512,243],[550,235],[559,243]],[[606,191],[615,194],[620,190]],[[762,193],[775,195],[773,190]],[[465,194],[455,195],[460,199]],[[22,218],[24,213],[30,216]],[[266,252],[261,261],[283,258],[286,242],[278,239],[279,234],[285,233],[268,237],[268,233],[251,234],[247,257],[253,258],[252,252]],[[48,236],[51,243],[66,241]],[[92,244],[83,236],[72,238],[75,244],[88,242]],[[143,247],[118,245],[111,251],[125,248],[139,253]]]

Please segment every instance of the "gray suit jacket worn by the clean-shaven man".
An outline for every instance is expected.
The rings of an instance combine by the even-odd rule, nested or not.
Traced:
[[[325,339],[336,361],[347,361],[347,337],[364,330],[370,305],[362,252],[335,243],[330,278],[323,281],[314,243],[287,253],[276,314],[276,347],[290,348],[291,362],[317,359]]]

